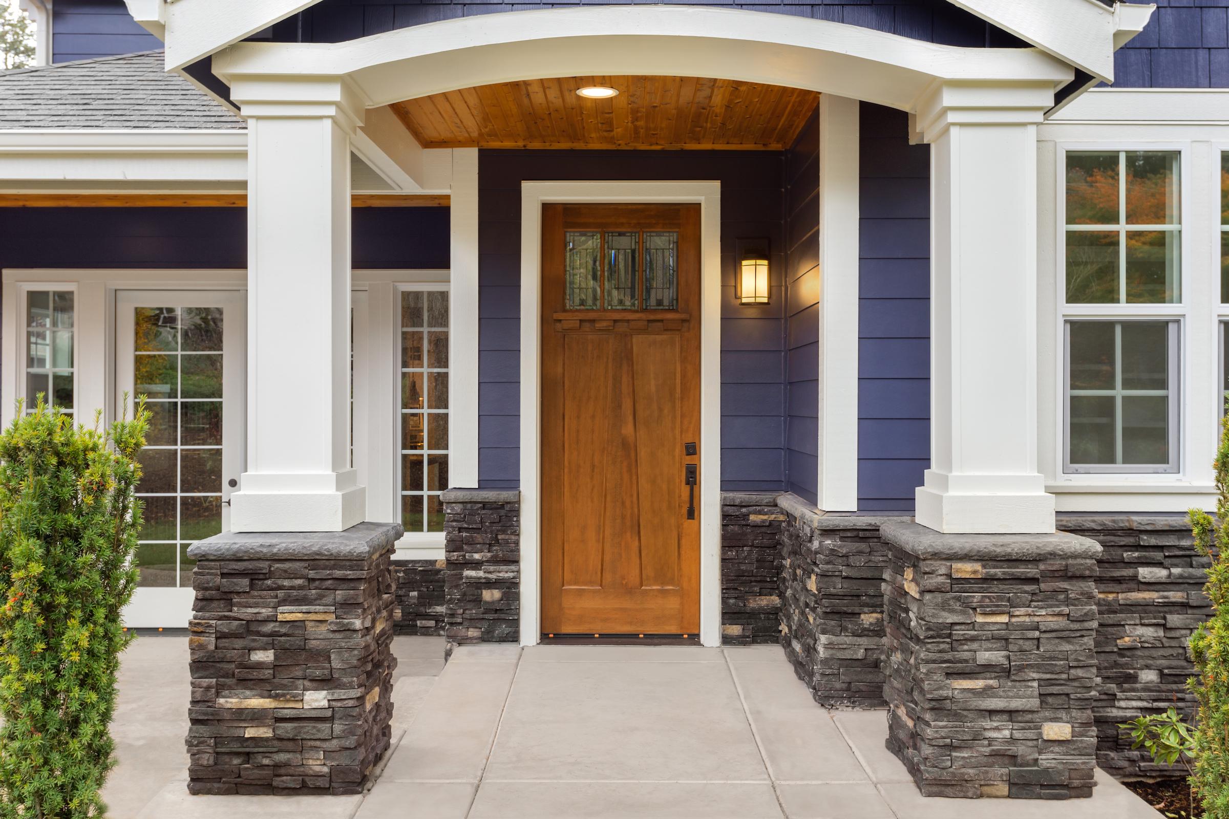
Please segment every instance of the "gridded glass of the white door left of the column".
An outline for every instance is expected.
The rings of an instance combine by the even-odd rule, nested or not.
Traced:
[[[192,586],[187,549],[222,529],[222,308],[136,307],[134,392],[150,411],[140,586]]]

